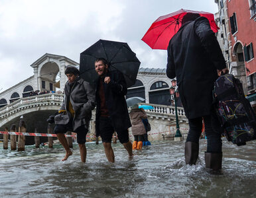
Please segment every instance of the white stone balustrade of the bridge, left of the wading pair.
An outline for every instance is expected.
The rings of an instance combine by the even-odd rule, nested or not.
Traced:
[[[27,98],[21,98],[19,100],[16,100],[15,102],[12,102],[11,104],[8,104],[7,106],[4,106],[3,108],[0,108],[0,116],[3,116],[3,114],[8,114],[9,112],[13,110],[17,110],[21,106],[30,106],[31,104],[42,104],[42,103],[50,103],[50,102],[56,102],[56,104],[61,104],[63,101],[64,94],[42,94],[37,96],[30,96]]]

